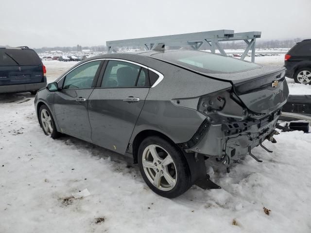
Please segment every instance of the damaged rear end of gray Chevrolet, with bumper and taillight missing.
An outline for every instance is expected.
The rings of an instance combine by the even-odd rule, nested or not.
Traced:
[[[273,138],[276,121],[288,97],[284,75],[285,70],[279,70],[196,98],[197,110],[207,118],[181,147],[188,152],[216,157],[227,167],[234,158],[247,153],[261,162],[251,150],[262,146],[266,139],[276,142]],[[183,100],[172,101],[183,105]]]

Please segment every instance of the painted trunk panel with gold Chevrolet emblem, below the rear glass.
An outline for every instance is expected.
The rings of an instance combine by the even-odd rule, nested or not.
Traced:
[[[261,66],[231,74],[205,74],[230,82],[234,93],[252,112],[267,114],[280,108],[289,95],[284,67]]]

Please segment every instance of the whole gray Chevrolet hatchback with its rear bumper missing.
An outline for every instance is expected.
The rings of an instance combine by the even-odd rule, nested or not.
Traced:
[[[284,67],[203,51],[114,53],[86,59],[41,89],[35,112],[60,133],[132,156],[157,194],[174,198],[265,139],[288,97]],[[263,147],[264,148],[264,147]],[[267,149],[266,149],[267,150]]]

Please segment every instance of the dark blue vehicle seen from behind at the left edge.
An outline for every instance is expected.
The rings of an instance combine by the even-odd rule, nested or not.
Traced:
[[[35,94],[47,84],[46,68],[38,54],[25,47],[0,48],[0,93]]]

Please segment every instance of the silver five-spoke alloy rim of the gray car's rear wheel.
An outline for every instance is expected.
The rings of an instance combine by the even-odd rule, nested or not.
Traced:
[[[149,145],[142,153],[142,166],[148,180],[162,191],[172,190],[177,171],[171,155],[158,145]]]

